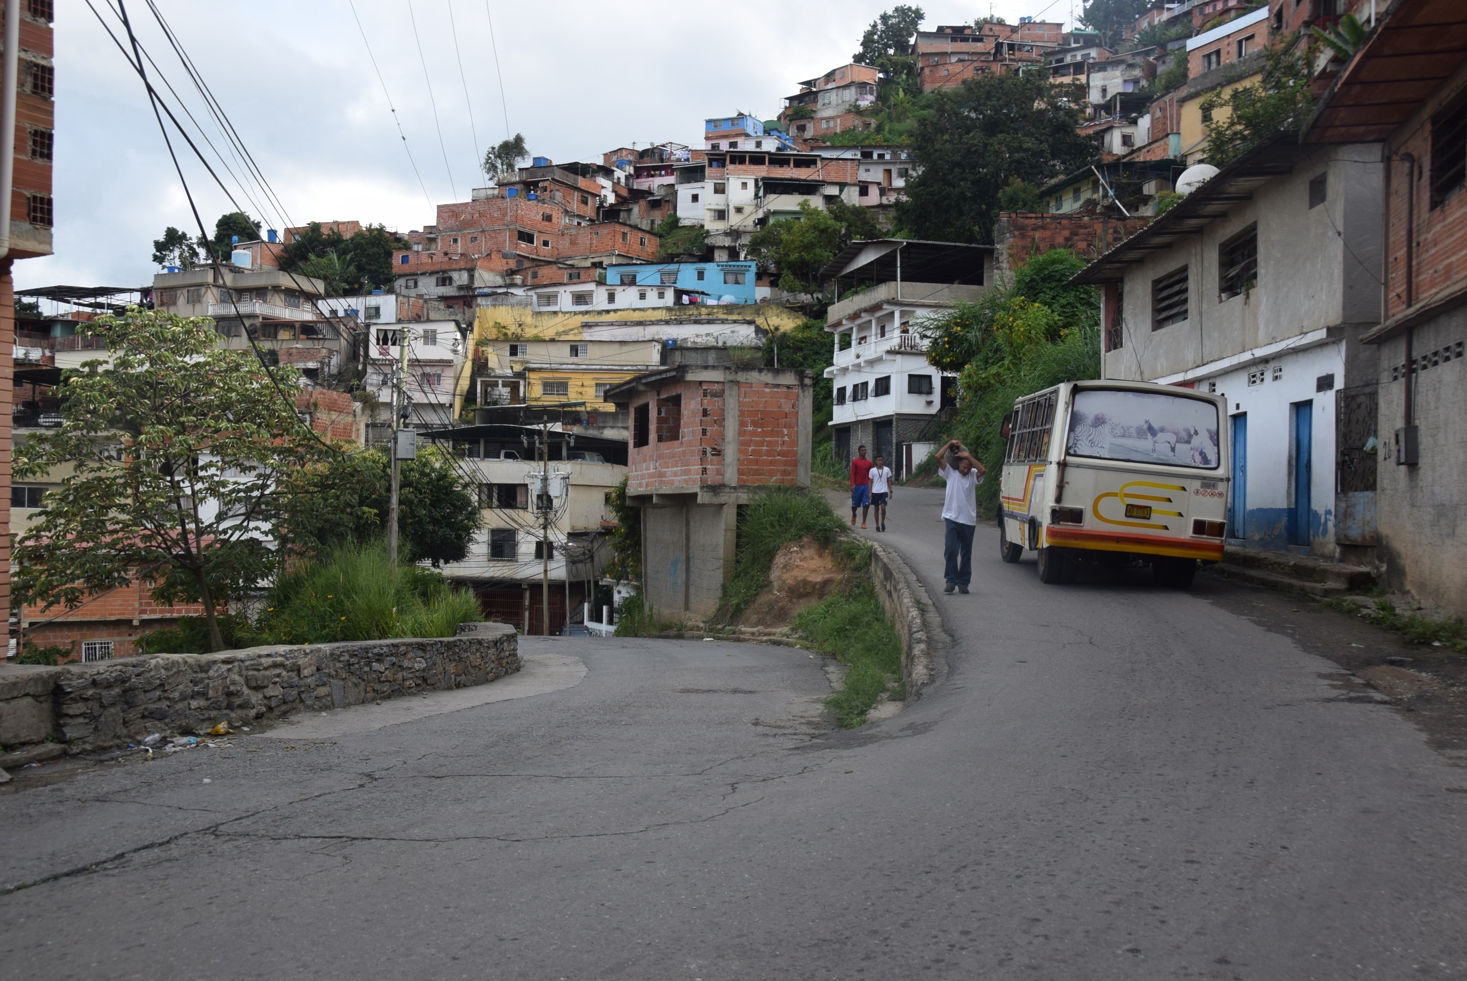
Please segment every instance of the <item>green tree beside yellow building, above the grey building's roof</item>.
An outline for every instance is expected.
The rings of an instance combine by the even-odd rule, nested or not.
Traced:
[[[1207,163],[1223,167],[1275,134],[1297,132],[1314,112],[1309,81],[1307,51],[1275,46],[1257,82],[1204,95],[1199,106],[1212,113]]]

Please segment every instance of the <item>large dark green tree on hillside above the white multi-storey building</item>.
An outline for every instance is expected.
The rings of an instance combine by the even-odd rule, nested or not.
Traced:
[[[1078,110],[1037,75],[984,75],[934,93],[918,117],[912,157],[918,170],[896,204],[912,238],[987,242],[1009,181],[1043,185],[1090,160],[1093,145],[1075,132]]]

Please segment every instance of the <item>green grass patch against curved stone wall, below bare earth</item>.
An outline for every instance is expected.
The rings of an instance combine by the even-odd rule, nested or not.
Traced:
[[[792,626],[816,651],[846,665],[841,690],[826,699],[841,725],[864,723],[882,693],[901,684],[901,640],[870,582],[805,607]]]

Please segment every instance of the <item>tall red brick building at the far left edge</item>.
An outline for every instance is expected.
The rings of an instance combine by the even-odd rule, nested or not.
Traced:
[[[9,253],[0,258],[0,602],[10,602],[10,441],[15,401],[15,280],[12,263],[51,254],[51,163],[56,141],[56,65],[51,0],[4,0],[19,15],[15,172]]]

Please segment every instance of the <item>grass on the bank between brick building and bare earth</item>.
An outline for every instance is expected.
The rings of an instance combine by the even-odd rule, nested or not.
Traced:
[[[826,545],[841,530],[841,518],[819,493],[770,485],[739,508],[734,576],[723,584],[714,620],[729,621],[769,586],[769,567],[786,542],[813,537]]]

